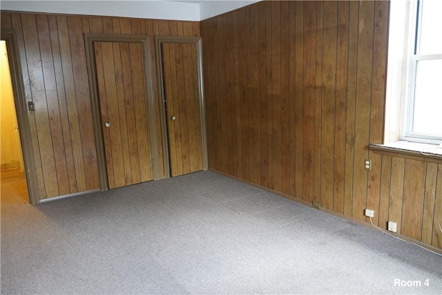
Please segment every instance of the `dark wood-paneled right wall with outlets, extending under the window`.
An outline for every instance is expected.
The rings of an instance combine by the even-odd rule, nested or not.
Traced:
[[[369,207],[376,225],[441,248],[440,165],[404,170],[369,150],[383,142],[389,13],[389,1],[262,1],[202,21],[209,167],[367,222]]]

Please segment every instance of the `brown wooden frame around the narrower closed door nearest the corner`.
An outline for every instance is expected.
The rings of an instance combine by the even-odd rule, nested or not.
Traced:
[[[166,94],[164,89],[164,70],[163,70],[163,43],[184,43],[195,44],[198,64],[198,95],[200,101],[200,122],[201,122],[201,148],[202,148],[202,169],[209,168],[209,161],[207,160],[207,141],[206,141],[206,106],[204,102],[204,81],[202,77],[202,39],[201,37],[185,37],[185,36],[155,36],[155,53],[157,57],[157,81],[158,81],[158,96],[160,99],[160,122],[162,131],[162,149],[163,149],[163,164],[164,177],[171,177],[171,164],[169,156],[169,136],[166,122]]]

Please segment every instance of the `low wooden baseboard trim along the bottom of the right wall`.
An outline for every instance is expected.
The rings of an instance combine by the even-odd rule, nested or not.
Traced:
[[[293,197],[293,196],[286,195],[285,193],[280,193],[279,191],[274,191],[273,189],[269,189],[268,187],[262,187],[262,186],[260,186],[260,185],[258,185],[258,184],[254,184],[254,183],[252,183],[252,182],[248,182],[248,181],[242,180],[242,179],[240,179],[240,178],[237,178],[236,176],[229,175],[229,174],[224,173],[224,172],[222,172],[222,171],[218,171],[218,170],[211,169],[211,168],[209,168],[209,171],[212,171],[212,172],[214,172],[214,173],[218,173],[218,174],[221,174],[221,175],[227,176],[228,178],[233,178],[233,179],[238,180],[238,181],[240,181],[240,182],[244,182],[244,183],[247,183],[247,184],[251,184],[251,185],[253,185],[253,187],[259,187],[260,189],[264,189],[265,191],[269,191],[269,192],[274,193],[274,194],[276,194],[276,195],[278,195],[278,196],[281,196],[281,197],[283,197],[283,198],[286,198],[286,199],[292,200],[292,201],[294,201],[294,202],[298,202],[298,203],[300,203],[300,204],[305,204],[305,205],[308,206],[308,207],[313,207],[313,206],[311,205],[310,202],[307,202],[307,201],[302,200],[302,199],[300,199],[300,198],[295,198],[295,197]],[[355,223],[357,223],[358,225],[363,225],[364,227],[368,227],[369,229],[375,229],[375,230],[379,231],[379,229],[376,229],[376,227],[373,227],[373,225],[371,225],[371,223],[369,223],[369,222],[367,222],[367,221],[363,221],[363,220],[360,220],[360,219],[357,219],[357,218],[353,218],[353,217],[350,217],[350,216],[346,216],[346,215],[344,215],[344,214],[342,214],[342,213],[338,213],[338,212],[332,211],[332,210],[327,209],[327,208],[324,208],[324,207],[320,207],[320,209],[317,209],[317,210],[324,211],[324,212],[326,212],[326,213],[332,214],[332,215],[334,215],[334,216],[338,216],[338,217],[343,218],[343,219],[345,219],[345,220],[349,220],[349,221],[355,222]],[[439,248],[436,248],[436,247],[432,247],[432,246],[427,245],[427,244],[425,244],[425,243],[423,243],[423,242],[421,242],[421,241],[419,241],[419,240],[413,240],[412,238],[408,238],[408,237],[406,237],[406,236],[402,236],[402,235],[399,235],[399,234],[390,233],[390,231],[387,232],[386,229],[383,230],[383,231],[385,232],[385,234],[389,234],[390,236],[393,236],[393,237],[395,237],[395,238],[399,238],[399,239],[401,239],[401,240],[405,240],[406,242],[410,242],[410,243],[412,243],[412,244],[414,244],[414,245],[417,245],[417,246],[423,247],[423,248],[425,248],[425,249],[427,249],[427,250],[430,250],[430,251],[436,252],[437,254],[441,254],[441,255],[442,255],[442,249],[439,249]]]

